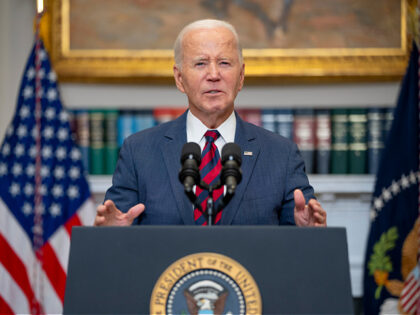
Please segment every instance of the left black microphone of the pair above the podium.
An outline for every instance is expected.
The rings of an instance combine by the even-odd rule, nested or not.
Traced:
[[[192,193],[194,185],[200,183],[201,149],[195,142],[188,142],[182,147],[181,170],[179,180],[184,185],[185,192]]]

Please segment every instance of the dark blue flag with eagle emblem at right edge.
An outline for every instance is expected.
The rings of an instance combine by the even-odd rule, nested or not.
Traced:
[[[413,44],[372,198],[365,314],[420,314],[418,62]]]

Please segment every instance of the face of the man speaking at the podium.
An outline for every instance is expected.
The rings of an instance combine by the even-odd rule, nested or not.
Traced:
[[[174,67],[176,85],[187,94],[191,112],[217,127],[209,124],[229,117],[244,81],[235,38],[224,27],[197,29],[185,34],[182,45],[182,68]]]

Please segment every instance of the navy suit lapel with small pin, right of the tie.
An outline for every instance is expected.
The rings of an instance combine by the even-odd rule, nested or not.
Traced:
[[[235,113],[236,114],[236,113]],[[247,128],[245,122],[236,114],[235,143],[241,147],[242,154],[242,181],[236,188],[235,196],[228,206],[223,209],[221,224],[232,224],[232,220],[239,210],[239,206],[244,197],[246,187],[251,178],[252,171],[260,153],[260,145],[256,141],[256,134],[252,128]],[[245,152],[246,155],[245,155]]]

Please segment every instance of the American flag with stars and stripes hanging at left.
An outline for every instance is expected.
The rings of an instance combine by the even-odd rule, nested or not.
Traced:
[[[43,43],[0,148],[0,314],[62,313],[71,228],[95,216]]]

